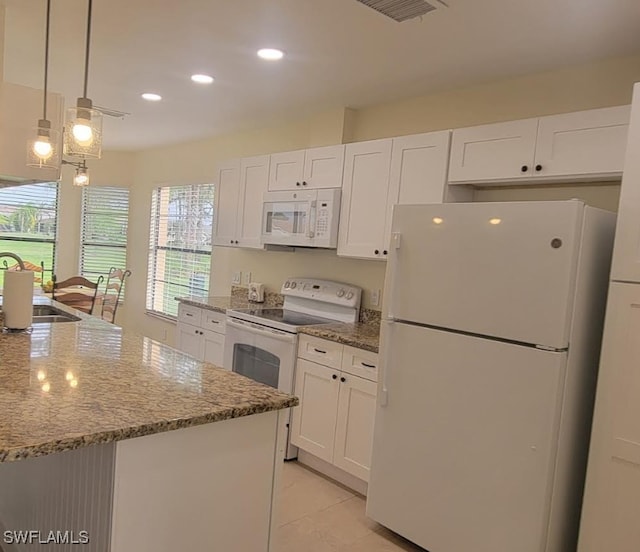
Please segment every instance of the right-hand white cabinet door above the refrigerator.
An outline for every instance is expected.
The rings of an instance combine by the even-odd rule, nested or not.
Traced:
[[[536,176],[619,178],[624,165],[630,106],[542,117]]]

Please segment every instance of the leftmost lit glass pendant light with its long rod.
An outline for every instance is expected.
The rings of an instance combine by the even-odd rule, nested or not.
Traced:
[[[34,129],[35,137],[27,144],[27,165],[45,169],[60,168],[60,133],[51,128],[47,119],[47,84],[49,77],[49,23],[51,20],[51,0],[47,0],[47,16],[44,40],[44,94],[42,119]]]

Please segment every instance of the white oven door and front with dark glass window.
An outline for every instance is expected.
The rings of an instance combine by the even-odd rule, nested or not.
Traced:
[[[224,367],[260,383],[293,393],[297,335],[227,317]],[[283,416],[286,426],[285,459],[296,458],[290,444],[291,411]]]

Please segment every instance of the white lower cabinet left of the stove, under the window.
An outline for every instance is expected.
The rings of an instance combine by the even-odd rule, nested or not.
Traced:
[[[176,348],[188,355],[222,367],[225,315],[180,303]]]

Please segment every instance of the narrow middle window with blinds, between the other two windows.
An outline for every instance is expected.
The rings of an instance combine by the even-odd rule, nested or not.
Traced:
[[[127,266],[129,190],[93,186],[82,190],[80,274],[91,281],[106,279],[112,266]]]

